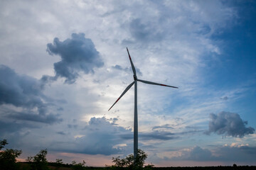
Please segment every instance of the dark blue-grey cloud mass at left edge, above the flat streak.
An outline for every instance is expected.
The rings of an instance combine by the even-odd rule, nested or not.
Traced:
[[[13,69],[0,65],[0,105],[37,108],[43,114],[46,112],[46,104],[43,103],[41,90],[37,79],[18,75]]]

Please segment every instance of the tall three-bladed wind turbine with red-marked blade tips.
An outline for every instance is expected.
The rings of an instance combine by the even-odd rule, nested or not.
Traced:
[[[129,55],[128,48],[127,48],[127,52],[128,52],[128,55]],[[122,98],[122,96],[124,96],[124,94],[127,91],[129,91],[129,89],[132,87],[132,85],[134,85],[134,159],[135,159],[137,157],[137,152],[138,152],[137,81],[141,81],[142,83],[145,83],[145,84],[168,86],[168,87],[177,88],[177,89],[178,89],[178,87],[169,86],[169,85],[165,85],[165,84],[158,84],[158,83],[154,83],[154,82],[151,82],[151,81],[145,81],[145,80],[137,79],[136,69],[134,67],[134,64],[132,62],[132,58],[131,58],[130,55],[129,55],[129,60],[130,60],[131,65],[132,65],[132,72],[134,73],[134,81],[131,84],[129,84],[129,86],[127,86],[127,88],[124,90],[124,92],[122,92],[121,96],[119,96],[119,98],[117,98],[117,101],[119,101],[119,99]],[[115,101],[114,104],[117,103],[117,101]],[[111,106],[111,108],[114,106],[114,104]],[[110,111],[110,109],[108,111]]]

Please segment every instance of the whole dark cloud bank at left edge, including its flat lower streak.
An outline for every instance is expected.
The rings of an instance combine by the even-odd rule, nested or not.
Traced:
[[[58,115],[48,114],[48,98],[42,93],[41,81],[16,74],[13,69],[0,65],[0,114],[2,118],[29,120],[52,124],[61,121]],[[15,111],[13,107],[22,109]]]

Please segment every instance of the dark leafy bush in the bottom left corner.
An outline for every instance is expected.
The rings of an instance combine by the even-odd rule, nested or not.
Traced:
[[[6,140],[0,141],[0,150],[8,145]],[[19,166],[16,164],[16,158],[21,155],[22,151],[17,149],[6,149],[0,152],[0,169],[1,170],[13,170],[18,169]]]

